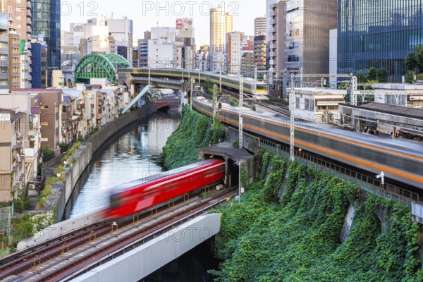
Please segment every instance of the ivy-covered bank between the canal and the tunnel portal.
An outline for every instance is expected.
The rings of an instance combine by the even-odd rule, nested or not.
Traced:
[[[183,109],[178,130],[166,142],[161,154],[161,163],[166,169],[192,164],[198,161],[198,148],[223,140],[224,133],[221,123],[215,121],[214,130],[212,130],[212,118],[190,111],[187,105]]]

